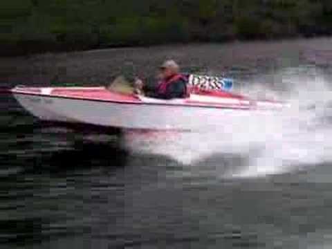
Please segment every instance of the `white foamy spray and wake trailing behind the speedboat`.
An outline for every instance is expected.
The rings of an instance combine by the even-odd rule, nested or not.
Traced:
[[[264,93],[287,99],[291,107],[284,111],[232,116],[220,129],[204,133],[131,131],[124,136],[124,145],[136,153],[170,156],[192,174],[209,169],[217,178],[285,174],[330,162],[332,91],[316,69],[301,73],[295,68],[277,74],[286,86],[282,91],[262,85],[242,89],[258,97]]]

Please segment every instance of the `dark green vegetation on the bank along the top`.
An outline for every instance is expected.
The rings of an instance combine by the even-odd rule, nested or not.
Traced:
[[[1,53],[331,35],[331,0],[2,0]]]

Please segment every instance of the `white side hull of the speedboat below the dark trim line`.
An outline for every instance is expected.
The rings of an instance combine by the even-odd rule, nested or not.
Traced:
[[[41,120],[78,122],[124,129],[214,129],[232,118],[250,116],[247,109],[120,104],[15,94],[18,102]]]

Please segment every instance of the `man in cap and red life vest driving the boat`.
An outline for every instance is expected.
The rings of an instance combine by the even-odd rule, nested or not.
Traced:
[[[187,78],[181,73],[180,67],[174,60],[167,60],[160,66],[158,78],[160,81],[154,93],[149,94],[151,98],[172,100],[174,98],[187,97]],[[141,80],[136,80],[136,93],[142,93],[144,84]]]

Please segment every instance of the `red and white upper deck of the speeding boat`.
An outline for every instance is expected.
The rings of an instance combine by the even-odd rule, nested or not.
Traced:
[[[203,107],[225,107],[234,109],[255,109],[257,105],[279,106],[274,101],[255,101],[242,95],[223,91],[194,91],[190,98],[177,100],[157,100],[145,96],[116,93],[105,87],[16,87],[12,93],[25,95],[40,95],[55,98],[71,98],[77,100],[96,100],[103,102],[118,102],[121,104],[166,104]]]

